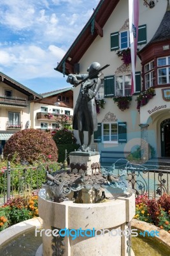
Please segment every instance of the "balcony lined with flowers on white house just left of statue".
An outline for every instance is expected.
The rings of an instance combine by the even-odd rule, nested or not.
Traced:
[[[38,120],[54,120],[55,122],[59,122],[59,123],[64,122],[65,124],[72,124],[73,116],[38,112],[37,119]]]

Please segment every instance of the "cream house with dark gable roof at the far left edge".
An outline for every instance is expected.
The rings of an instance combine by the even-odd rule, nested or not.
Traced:
[[[0,72],[0,141],[3,146],[15,132],[31,127],[30,102],[41,97]]]

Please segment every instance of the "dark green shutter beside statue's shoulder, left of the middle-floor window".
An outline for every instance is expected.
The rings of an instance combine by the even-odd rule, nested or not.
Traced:
[[[104,77],[104,98],[113,97],[115,95],[115,77]]]

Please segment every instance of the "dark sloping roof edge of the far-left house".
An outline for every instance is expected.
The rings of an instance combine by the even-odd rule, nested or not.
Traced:
[[[18,91],[24,93],[27,96],[33,95],[33,97],[36,98],[36,99],[41,99],[42,98],[42,96],[40,94],[32,91],[31,89],[27,88],[23,84],[18,83],[17,81],[15,81],[14,79],[12,79],[9,76],[6,76],[2,72],[0,72],[0,78],[1,78],[1,81],[3,81],[3,83],[8,84],[9,86],[17,89]]]

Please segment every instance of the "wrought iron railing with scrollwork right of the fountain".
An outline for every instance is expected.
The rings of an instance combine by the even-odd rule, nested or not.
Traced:
[[[170,191],[170,168],[169,170],[159,170],[142,166],[140,164],[131,164],[126,159],[123,164],[115,163],[108,168],[115,175],[120,175],[122,170],[127,171],[126,179],[129,181],[136,196],[148,194],[150,198],[157,198]],[[166,166],[167,169],[167,166]]]

